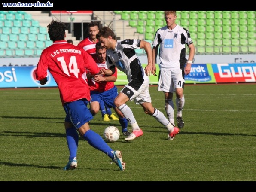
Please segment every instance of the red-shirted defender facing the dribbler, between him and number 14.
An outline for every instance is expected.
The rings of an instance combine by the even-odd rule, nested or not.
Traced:
[[[99,69],[106,68],[106,51],[107,49],[101,46],[101,43],[96,43],[96,60]],[[131,133],[128,131],[128,121],[125,119],[122,112],[114,104],[114,100],[118,95],[118,91],[114,82],[117,77],[117,69],[113,66],[115,72],[113,75],[95,75],[91,76],[87,73],[88,85],[91,89],[91,101],[90,101],[90,111],[94,116],[100,110],[101,102],[105,103],[107,108],[113,108],[119,117],[119,122],[122,127],[122,133],[124,136],[129,136]]]

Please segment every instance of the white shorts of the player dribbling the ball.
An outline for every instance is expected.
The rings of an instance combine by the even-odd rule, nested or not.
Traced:
[[[120,91],[130,98],[130,101],[135,102],[135,104],[143,104],[144,102],[151,103],[151,97],[149,94],[149,79],[145,79],[139,90],[135,90],[129,85],[125,85],[125,87]]]

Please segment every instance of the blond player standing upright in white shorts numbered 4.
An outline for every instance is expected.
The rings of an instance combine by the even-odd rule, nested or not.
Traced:
[[[184,75],[191,70],[192,60],[195,55],[195,46],[189,31],[175,23],[176,11],[165,11],[166,26],[158,29],[153,41],[153,70],[155,71],[156,57],[159,52],[159,81],[158,91],[165,94],[165,111],[169,121],[174,124],[173,93],[176,93],[177,125],[183,128],[182,110],[185,104],[183,89]],[[189,58],[186,60],[186,45],[189,47]]]

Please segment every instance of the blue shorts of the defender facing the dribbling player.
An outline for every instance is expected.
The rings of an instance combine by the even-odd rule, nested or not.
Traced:
[[[108,108],[115,108],[116,106],[114,104],[114,100],[117,97],[117,95],[118,93],[116,86],[104,92],[91,91],[90,102],[98,101],[98,103],[101,103],[101,100],[103,100]]]

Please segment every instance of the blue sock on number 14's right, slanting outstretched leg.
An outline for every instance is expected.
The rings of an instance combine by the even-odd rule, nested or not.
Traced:
[[[89,145],[93,146],[95,149],[104,152],[111,159],[114,158],[114,155],[111,152],[113,151],[113,149],[111,149],[110,146],[108,146],[108,144],[102,139],[102,137],[99,134],[95,133],[90,129],[86,131],[83,137],[85,140],[88,141]]]

